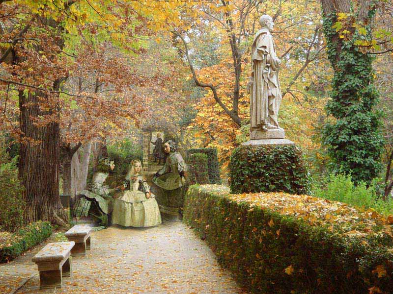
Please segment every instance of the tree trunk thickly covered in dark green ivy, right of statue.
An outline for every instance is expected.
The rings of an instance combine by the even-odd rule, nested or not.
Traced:
[[[378,93],[373,85],[371,54],[357,41],[371,38],[375,3],[371,0],[321,0],[327,53],[334,69],[324,143],[334,163],[333,172],[352,173],[355,183],[380,172],[383,137],[373,107]],[[355,3],[356,2],[356,3]],[[360,31],[362,30],[362,31]]]

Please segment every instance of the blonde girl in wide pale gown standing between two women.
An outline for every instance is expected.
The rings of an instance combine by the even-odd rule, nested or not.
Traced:
[[[133,227],[149,227],[161,223],[157,201],[141,170],[140,161],[133,160],[126,180],[120,186],[123,191],[115,196],[112,223]]]

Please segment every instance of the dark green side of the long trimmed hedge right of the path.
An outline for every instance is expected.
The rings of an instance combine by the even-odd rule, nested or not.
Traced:
[[[206,238],[219,263],[251,293],[392,293],[390,235],[350,237],[353,231],[345,235],[331,231],[328,226],[310,225],[307,213],[305,219],[298,218],[299,214],[283,215],[274,209],[235,200],[228,192],[223,186],[191,186],[185,198],[184,221]],[[285,194],[274,196],[282,198]],[[325,201],[297,197],[303,197],[304,203]],[[333,223],[336,225],[337,221]],[[344,228],[348,223],[339,225]],[[353,223],[362,226],[361,222]]]

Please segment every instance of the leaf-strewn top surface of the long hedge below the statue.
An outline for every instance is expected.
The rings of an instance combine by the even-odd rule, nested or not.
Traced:
[[[312,226],[326,227],[333,234],[349,238],[389,235],[393,237],[393,216],[384,217],[369,209],[356,209],[348,204],[308,195],[286,193],[230,194],[229,188],[220,185],[192,186],[190,189],[224,196],[238,203],[247,202],[253,207],[270,209]],[[367,242],[366,238],[363,242]]]

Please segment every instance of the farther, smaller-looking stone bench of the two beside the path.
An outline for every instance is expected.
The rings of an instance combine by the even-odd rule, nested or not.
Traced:
[[[91,226],[77,224],[65,232],[68,241],[74,241],[75,246],[71,250],[72,256],[86,255],[86,249],[91,246]]]

